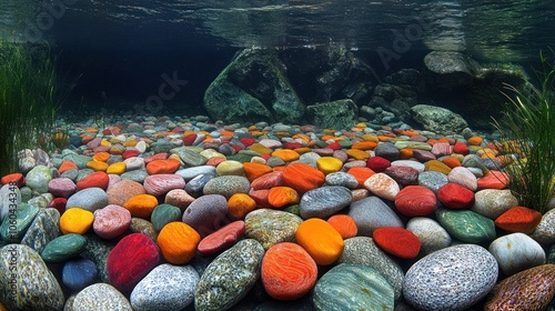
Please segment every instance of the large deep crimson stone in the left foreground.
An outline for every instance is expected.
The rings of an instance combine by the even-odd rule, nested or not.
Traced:
[[[130,292],[160,262],[160,249],[143,233],[121,239],[107,260],[108,279],[121,292]]]

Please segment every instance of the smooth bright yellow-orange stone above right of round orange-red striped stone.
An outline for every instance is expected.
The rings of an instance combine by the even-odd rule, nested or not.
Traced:
[[[296,229],[295,239],[321,265],[334,263],[345,245],[337,230],[327,221],[319,218],[303,221]]]

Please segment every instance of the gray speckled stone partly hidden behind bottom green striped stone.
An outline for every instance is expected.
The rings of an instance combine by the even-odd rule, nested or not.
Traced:
[[[369,237],[354,237],[345,240],[343,253],[337,263],[364,264],[377,270],[393,287],[395,301],[398,301],[403,290],[403,269],[385,254]]]

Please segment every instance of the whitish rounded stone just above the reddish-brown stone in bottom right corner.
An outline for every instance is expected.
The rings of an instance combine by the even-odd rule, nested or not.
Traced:
[[[490,244],[488,250],[506,275],[545,263],[542,245],[524,233],[501,237]]]

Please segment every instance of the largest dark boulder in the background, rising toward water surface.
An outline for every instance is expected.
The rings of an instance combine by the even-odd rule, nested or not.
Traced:
[[[272,49],[245,49],[210,84],[204,108],[215,120],[296,123],[304,104],[286,77],[286,68]]]

